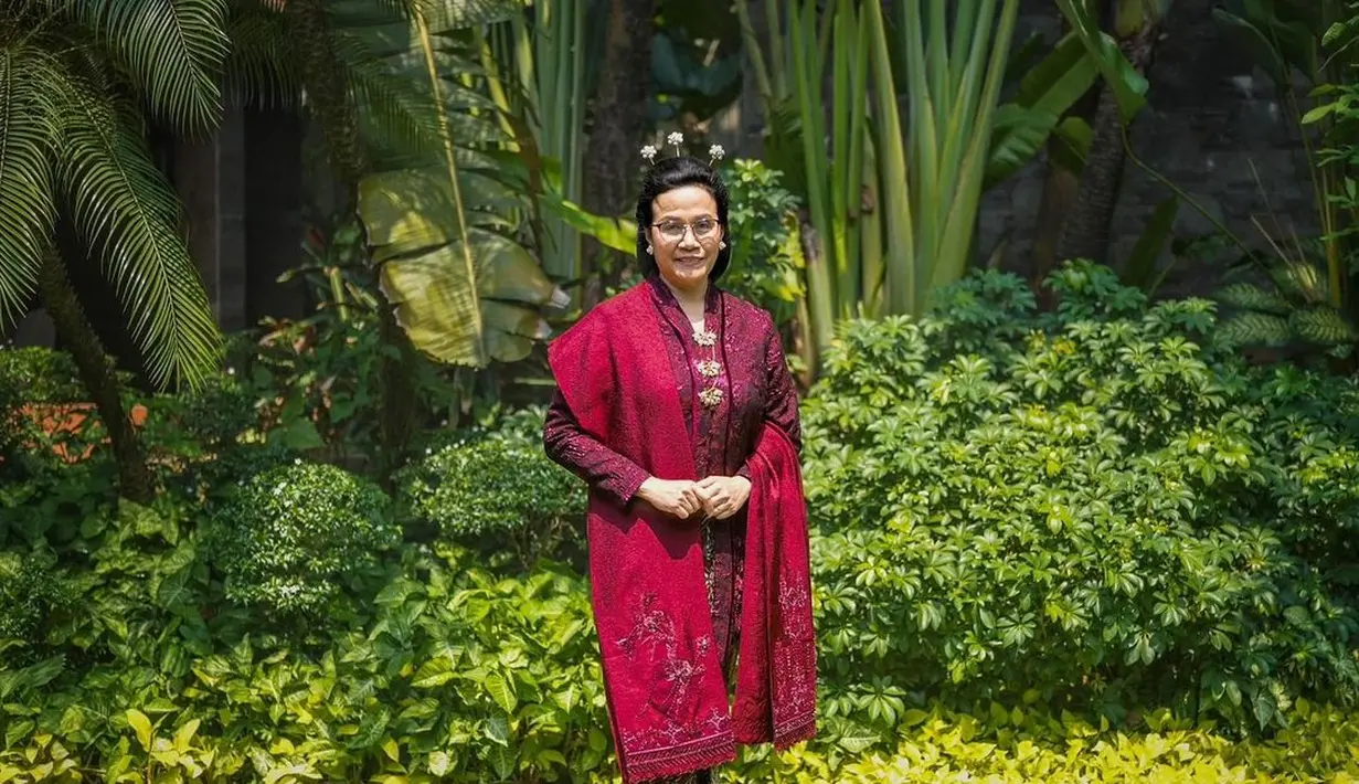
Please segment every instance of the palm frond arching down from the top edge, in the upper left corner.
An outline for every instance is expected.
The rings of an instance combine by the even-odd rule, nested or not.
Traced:
[[[158,117],[186,129],[212,128],[227,57],[227,0],[48,0],[87,27]]]

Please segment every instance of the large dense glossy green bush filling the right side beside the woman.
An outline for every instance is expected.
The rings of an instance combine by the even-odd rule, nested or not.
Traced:
[[[1359,385],[1249,368],[1212,304],[1072,265],[845,326],[806,404],[830,715],[950,698],[1211,711],[1349,700]]]

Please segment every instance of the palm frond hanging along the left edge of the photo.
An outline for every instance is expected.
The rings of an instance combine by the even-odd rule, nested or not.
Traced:
[[[0,326],[22,315],[52,242],[57,73],[41,49],[0,49]]]

